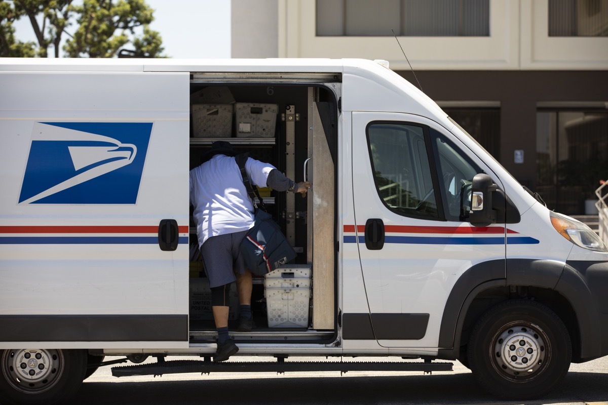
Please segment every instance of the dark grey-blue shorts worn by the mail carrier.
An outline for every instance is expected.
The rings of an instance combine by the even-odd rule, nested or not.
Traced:
[[[243,274],[247,268],[241,256],[241,241],[247,230],[212,236],[202,244],[202,262],[205,265],[209,287],[219,287],[237,280],[235,273]]]

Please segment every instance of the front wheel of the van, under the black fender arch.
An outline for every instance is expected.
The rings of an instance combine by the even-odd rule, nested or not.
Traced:
[[[572,359],[564,322],[534,301],[505,301],[475,324],[469,365],[488,392],[510,400],[545,395],[568,372]]]

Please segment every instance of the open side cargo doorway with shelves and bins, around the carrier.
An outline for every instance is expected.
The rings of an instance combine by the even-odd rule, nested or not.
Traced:
[[[193,73],[190,83],[190,169],[213,141],[229,141],[237,153],[274,165],[287,177],[314,182],[323,196],[315,209],[312,192],[260,189],[264,205],[298,256],[266,277],[254,277],[255,328],[236,332],[239,304],[230,289],[230,335],[238,341],[331,341],[336,333],[337,257],[335,251],[337,100],[335,75],[294,78],[230,77],[234,73]],[[319,82],[311,83],[312,81]],[[319,195],[317,195],[318,199]],[[319,202],[317,201],[317,204]],[[326,209],[331,207],[331,209]],[[215,342],[209,282],[198,250],[190,206],[190,342]],[[314,237],[313,237],[314,235]],[[319,265],[314,265],[318,262]],[[274,274],[276,273],[276,274]]]

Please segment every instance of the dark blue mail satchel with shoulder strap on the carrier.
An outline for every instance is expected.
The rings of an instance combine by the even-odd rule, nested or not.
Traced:
[[[249,182],[249,177],[245,171],[247,154],[237,155],[236,158],[243,176],[243,183],[247,189],[247,195],[255,206],[254,226],[250,228],[243,238],[243,242],[241,242],[241,254],[251,273],[256,276],[263,276],[295,259],[297,254],[281,232],[280,226],[274,222],[271,214],[266,212],[266,207],[257,188],[254,189],[255,186],[252,186]],[[260,207],[255,203],[254,193],[258,197]]]

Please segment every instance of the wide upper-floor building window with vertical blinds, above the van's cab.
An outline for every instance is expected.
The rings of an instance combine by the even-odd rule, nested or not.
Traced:
[[[489,36],[489,0],[317,0],[317,36]]]

